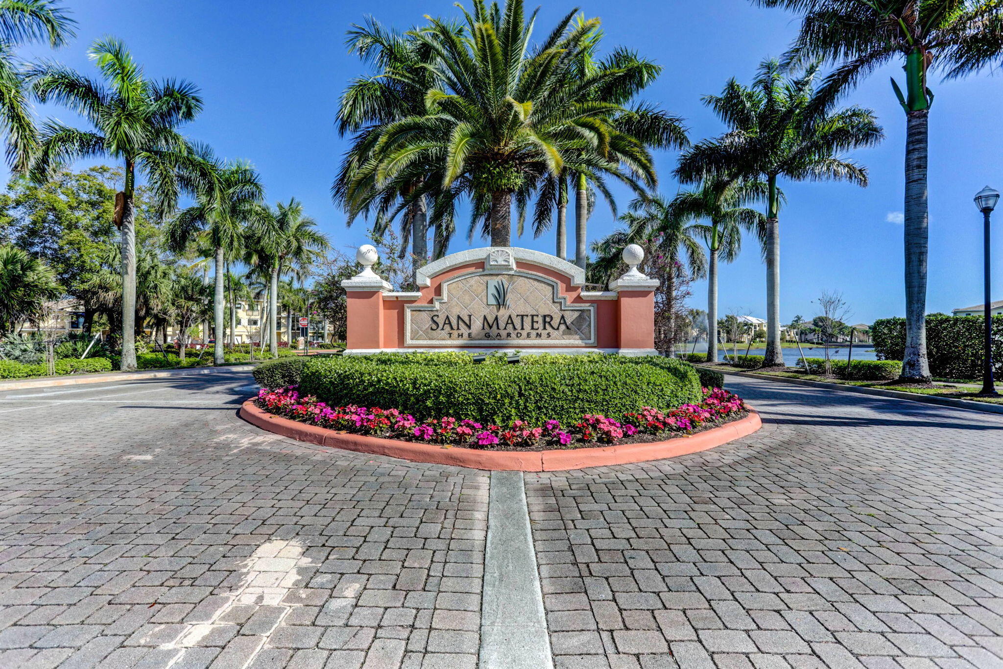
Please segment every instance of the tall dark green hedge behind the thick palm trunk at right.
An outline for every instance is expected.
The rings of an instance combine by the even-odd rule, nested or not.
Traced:
[[[993,316],[993,363],[1003,374],[1003,315]],[[982,378],[985,319],[982,316],[927,316],[927,356],[930,372],[941,378]],[[882,318],[871,330],[875,350],[883,360],[906,355],[906,319]]]

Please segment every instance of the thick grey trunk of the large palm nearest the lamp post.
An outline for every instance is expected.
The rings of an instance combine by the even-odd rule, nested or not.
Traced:
[[[907,113],[906,134],[906,354],[902,379],[929,382],[927,359],[927,141],[929,109]]]

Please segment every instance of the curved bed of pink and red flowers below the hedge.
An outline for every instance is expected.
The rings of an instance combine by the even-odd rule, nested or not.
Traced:
[[[575,423],[548,420],[533,425],[514,420],[509,425],[481,424],[443,416],[416,421],[395,408],[329,406],[296,386],[262,388],[254,402],[269,413],[318,427],[401,441],[462,446],[486,450],[544,450],[581,448],[617,443],[659,441],[740,418],[748,413],[737,395],[720,388],[703,388],[696,404],[662,412],[644,407],[619,418],[586,414]]]

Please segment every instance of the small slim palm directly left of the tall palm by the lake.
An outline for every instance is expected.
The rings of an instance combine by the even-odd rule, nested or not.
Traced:
[[[707,245],[707,362],[717,362],[717,263],[730,263],[741,250],[742,230],[764,241],[766,217],[744,207],[766,196],[766,185],[756,181],[711,179],[693,191],[677,195],[669,209],[675,220],[706,220],[695,228]]]

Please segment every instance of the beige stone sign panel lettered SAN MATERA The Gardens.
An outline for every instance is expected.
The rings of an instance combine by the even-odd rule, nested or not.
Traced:
[[[489,266],[489,264],[488,264]],[[443,282],[430,305],[407,305],[407,346],[594,346],[593,304],[568,304],[553,279],[472,272]]]

